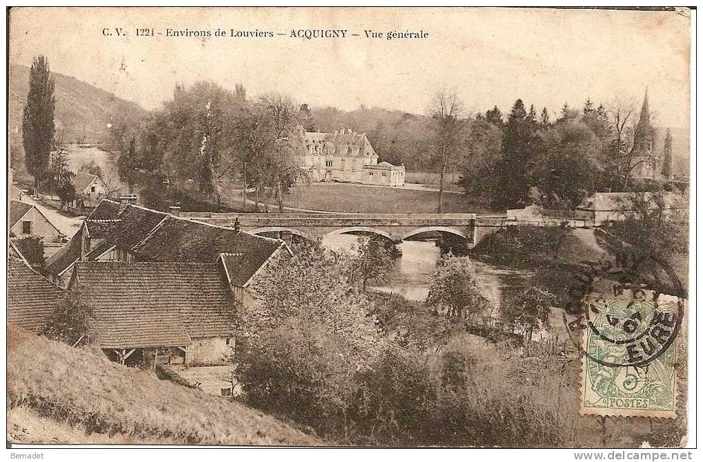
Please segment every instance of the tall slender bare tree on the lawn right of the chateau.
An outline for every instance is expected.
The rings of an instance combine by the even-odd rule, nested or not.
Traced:
[[[444,174],[453,161],[456,161],[460,137],[465,120],[461,119],[462,103],[456,93],[439,91],[434,98],[431,110],[434,159],[439,165],[439,197],[437,213],[444,206]]]

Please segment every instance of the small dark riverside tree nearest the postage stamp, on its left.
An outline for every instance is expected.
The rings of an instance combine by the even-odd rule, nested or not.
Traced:
[[[557,298],[552,293],[530,286],[505,297],[501,303],[501,317],[508,325],[518,329],[527,342],[532,332],[548,324],[549,313],[556,305]]]

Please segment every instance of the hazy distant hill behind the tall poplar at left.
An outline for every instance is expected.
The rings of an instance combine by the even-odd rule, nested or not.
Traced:
[[[136,103],[117,98],[109,91],[86,84],[75,77],[52,72],[56,97],[56,124],[66,143],[108,143],[110,117],[147,111]],[[11,65],[9,73],[8,118],[12,141],[22,144],[22,110],[30,89],[30,68]]]

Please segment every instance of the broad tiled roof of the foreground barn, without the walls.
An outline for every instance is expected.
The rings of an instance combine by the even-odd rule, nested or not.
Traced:
[[[185,346],[231,336],[233,304],[218,265],[77,262],[100,348]]]

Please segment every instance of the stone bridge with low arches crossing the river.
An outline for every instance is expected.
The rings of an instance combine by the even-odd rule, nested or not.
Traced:
[[[213,225],[234,227],[257,235],[280,237],[292,235],[304,239],[321,239],[335,234],[379,235],[393,242],[439,232],[465,239],[472,247],[486,232],[505,225],[505,216],[481,216],[475,213],[179,213],[183,218]],[[489,227],[492,230],[479,230]]]

